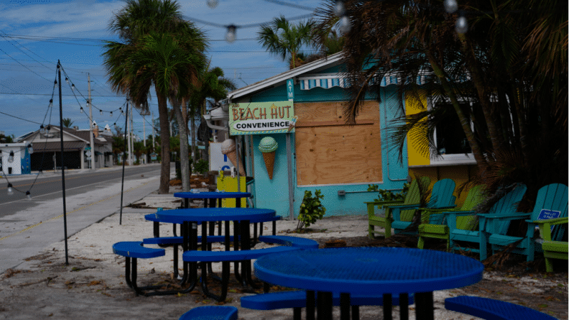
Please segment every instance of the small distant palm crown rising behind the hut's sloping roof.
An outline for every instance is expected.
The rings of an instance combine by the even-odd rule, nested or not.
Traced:
[[[257,40],[270,53],[279,55],[282,60],[290,59],[290,68],[299,65],[298,54],[302,45],[309,45],[312,39],[312,21],[291,24],[284,16],[261,26]],[[302,61],[300,61],[302,63]]]

